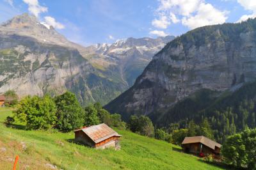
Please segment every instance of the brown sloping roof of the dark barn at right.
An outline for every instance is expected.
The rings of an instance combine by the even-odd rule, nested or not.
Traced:
[[[193,136],[193,137],[185,137],[182,144],[189,144],[189,143],[202,143],[205,146],[212,148],[212,150],[215,149],[215,146],[218,148],[221,147],[221,144],[216,143],[215,141],[212,141],[211,139],[204,137],[203,135]]]

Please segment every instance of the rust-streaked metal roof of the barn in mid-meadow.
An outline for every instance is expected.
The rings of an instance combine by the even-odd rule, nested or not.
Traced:
[[[75,130],[74,132],[77,132],[79,130],[82,130],[84,134],[88,135],[88,137],[90,137],[94,143],[100,143],[108,139],[109,137],[122,136],[115,132],[115,130],[113,130],[112,128],[108,127],[108,125],[106,125],[105,123],[81,128]]]

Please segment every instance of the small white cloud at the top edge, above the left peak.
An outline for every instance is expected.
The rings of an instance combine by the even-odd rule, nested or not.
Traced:
[[[44,13],[48,11],[48,8],[45,6],[40,6],[38,0],[23,0],[24,3],[28,4],[28,10],[36,17],[39,16],[40,13]]]

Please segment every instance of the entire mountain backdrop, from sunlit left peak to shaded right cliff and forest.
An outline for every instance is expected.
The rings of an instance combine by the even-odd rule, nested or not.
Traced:
[[[209,121],[214,138],[254,128],[256,20],[199,27],[178,36],[127,38],[83,47],[24,13],[0,26],[0,93],[71,91],[124,121],[157,128]]]

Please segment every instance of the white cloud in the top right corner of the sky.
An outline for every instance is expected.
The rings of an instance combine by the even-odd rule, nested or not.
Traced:
[[[255,0],[237,0],[237,3],[243,6],[244,10],[249,10],[252,12],[251,15],[243,15],[237,22],[242,22],[244,20],[256,17],[256,1]]]

